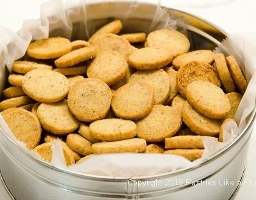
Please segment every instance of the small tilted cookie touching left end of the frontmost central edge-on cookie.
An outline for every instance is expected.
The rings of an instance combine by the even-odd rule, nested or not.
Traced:
[[[77,154],[92,154],[92,143],[79,134],[68,134],[66,142],[68,147],[71,148],[74,152],[77,152]]]

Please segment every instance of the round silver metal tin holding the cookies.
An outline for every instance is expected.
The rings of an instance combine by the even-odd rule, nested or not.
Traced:
[[[115,17],[122,18],[123,13],[129,9],[129,3],[120,0],[115,1],[116,3],[119,10]],[[100,10],[99,4],[102,8]],[[108,12],[108,6],[113,5],[104,4],[102,1],[88,6],[88,22],[103,24],[106,18],[113,17]],[[195,50],[213,49],[227,36],[215,25],[195,15],[173,8],[166,9],[172,17],[186,20],[187,25],[178,24],[178,28],[187,30]],[[138,4],[137,15],[132,18],[133,23],[128,23],[125,29],[143,31],[143,27],[150,25],[154,10],[154,3]],[[75,17],[72,21],[76,30],[79,21]],[[75,31],[72,37],[76,38]],[[15,199],[230,199],[236,194],[239,187],[237,182],[243,177],[255,111],[244,131],[220,154],[195,168],[182,169],[175,173],[127,179],[83,175],[55,168],[20,148],[4,134],[1,127],[0,170],[6,187]],[[230,181],[234,181],[234,184]],[[145,183],[144,187],[139,187],[139,183]]]

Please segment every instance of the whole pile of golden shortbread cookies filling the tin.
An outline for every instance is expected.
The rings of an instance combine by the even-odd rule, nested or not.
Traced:
[[[33,41],[14,62],[0,111],[29,150],[51,161],[59,138],[67,165],[122,152],[194,161],[205,137],[223,141],[247,87],[234,56],[189,52],[172,29],[121,29],[115,20],[88,41]]]

